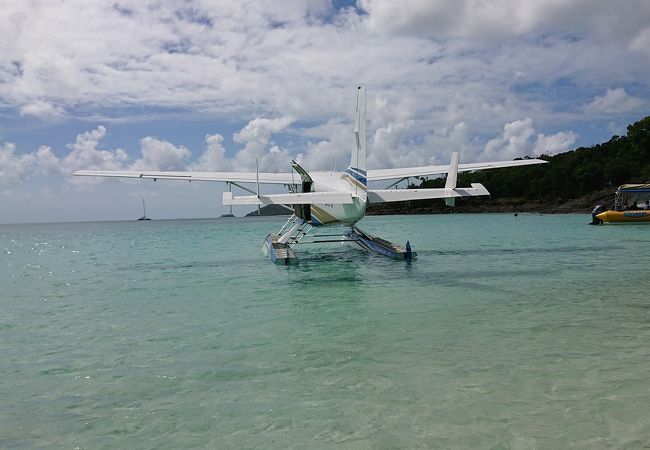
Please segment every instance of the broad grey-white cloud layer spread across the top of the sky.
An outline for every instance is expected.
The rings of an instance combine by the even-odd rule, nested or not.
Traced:
[[[362,0],[359,7],[363,14],[337,13],[326,0],[8,3],[0,17],[0,103],[35,117],[133,107],[143,120],[142,109],[162,107],[240,121],[327,121],[349,114],[348,93],[364,81],[391,105],[419,104],[415,128],[464,121],[486,132],[526,114],[555,120],[557,104],[513,86],[548,87],[554,79],[602,86],[647,73],[638,57],[650,35],[643,0],[625,8],[603,0]]]

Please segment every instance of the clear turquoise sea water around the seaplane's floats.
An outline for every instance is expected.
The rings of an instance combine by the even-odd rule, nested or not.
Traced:
[[[1,448],[642,448],[650,226],[370,217],[0,226]]]

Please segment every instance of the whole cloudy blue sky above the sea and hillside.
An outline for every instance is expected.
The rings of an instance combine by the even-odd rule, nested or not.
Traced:
[[[340,170],[358,84],[371,169],[589,147],[649,74],[647,0],[0,0],[0,223],[226,212],[75,170]]]

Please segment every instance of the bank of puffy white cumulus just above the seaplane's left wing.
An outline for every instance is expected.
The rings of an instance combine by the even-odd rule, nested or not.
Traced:
[[[135,158],[121,148],[102,148],[108,134],[103,125],[78,134],[75,141],[67,145],[68,153],[61,158],[48,146],[19,153],[15,144],[7,142],[0,147],[0,184],[23,183],[34,175],[69,175],[76,170],[253,171],[256,160],[261,171],[286,171],[294,156],[274,144],[272,136],[291,123],[290,118],[251,120],[234,134],[233,139],[242,147],[232,156],[226,155],[223,136],[208,134],[202,153],[193,162],[192,152],[184,145],[152,136],[140,140],[140,153]],[[91,178],[65,180],[77,184],[101,182],[101,179]]]

